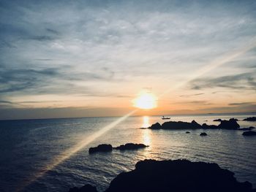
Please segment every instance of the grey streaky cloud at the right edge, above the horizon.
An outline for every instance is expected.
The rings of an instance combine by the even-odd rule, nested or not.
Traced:
[[[190,87],[194,90],[205,88],[231,88],[239,90],[255,90],[256,79],[253,73],[234,74],[215,78],[200,78],[193,80]]]

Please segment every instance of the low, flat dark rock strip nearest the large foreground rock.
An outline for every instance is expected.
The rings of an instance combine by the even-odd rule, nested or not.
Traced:
[[[149,147],[148,145],[144,144],[137,144],[137,143],[127,143],[124,145],[120,145],[118,147],[112,147],[110,144],[101,144],[97,147],[90,147],[89,148],[89,154],[91,153],[97,153],[97,152],[110,152],[113,149],[114,150],[138,150],[141,148]]]

